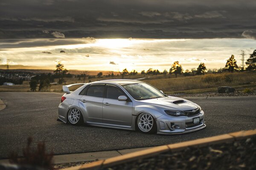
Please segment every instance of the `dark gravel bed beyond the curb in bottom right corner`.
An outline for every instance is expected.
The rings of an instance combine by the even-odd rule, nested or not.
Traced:
[[[255,170],[256,136],[232,143],[188,147],[180,152],[119,164],[105,170]]]

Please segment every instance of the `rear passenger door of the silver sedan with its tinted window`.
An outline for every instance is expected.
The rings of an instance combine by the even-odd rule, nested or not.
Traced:
[[[105,85],[90,85],[81,91],[83,95],[79,106],[85,115],[86,122],[102,123],[102,102],[105,93]]]

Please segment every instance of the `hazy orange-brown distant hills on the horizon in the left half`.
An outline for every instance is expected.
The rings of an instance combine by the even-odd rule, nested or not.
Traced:
[[[5,70],[5,65],[0,65],[1,70]],[[30,66],[30,65],[10,65],[10,71],[28,71],[33,73],[53,73],[54,68],[52,67],[42,67],[42,66]],[[83,70],[69,70],[68,73],[70,74],[82,74]],[[97,75],[99,72],[102,72],[103,75],[108,75],[113,72],[113,74],[119,74],[116,71],[88,71],[89,75]]]

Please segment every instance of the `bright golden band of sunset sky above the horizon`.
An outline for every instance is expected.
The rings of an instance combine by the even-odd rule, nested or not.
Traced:
[[[213,69],[224,67],[231,54],[238,59],[241,46],[250,54],[255,43],[247,39],[27,39],[0,41],[0,60],[48,68],[59,60],[65,68],[77,70],[163,71],[175,61],[184,70],[201,62]]]

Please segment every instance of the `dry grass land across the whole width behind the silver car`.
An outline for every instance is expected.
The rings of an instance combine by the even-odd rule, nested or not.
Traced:
[[[236,88],[236,90],[244,90],[249,88],[252,91],[256,91],[256,73],[255,72],[240,72],[240,73],[222,73],[222,74],[206,74],[201,76],[184,77],[178,75],[175,78],[174,75],[128,75],[124,79],[138,79],[143,78],[142,81],[147,82],[159,90],[164,91],[166,94],[175,93],[204,93],[209,91],[216,91],[218,86],[228,85]],[[121,79],[121,76],[115,77],[100,77],[92,78],[90,81],[97,81],[97,79]],[[65,84],[83,83],[83,79],[78,78],[65,78]],[[85,82],[89,79],[86,78]],[[55,80],[57,82],[57,79]],[[75,88],[78,88],[75,87]],[[71,91],[74,89],[71,89]],[[23,85],[14,86],[0,86],[0,91],[16,91],[26,92],[30,91],[29,82],[24,82]],[[61,92],[62,85],[51,85],[51,87],[45,91]]]

